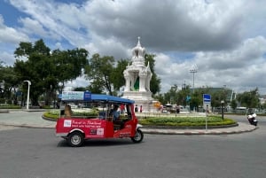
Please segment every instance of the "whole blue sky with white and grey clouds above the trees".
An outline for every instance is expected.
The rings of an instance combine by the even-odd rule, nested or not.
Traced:
[[[266,13],[260,0],[2,0],[0,61],[12,66],[20,42],[43,39],[51,50],[131,58],[137,36],[156,54],[161,91],[176,84],[266,94]],[[87,86],[83,77],[68,87]]]

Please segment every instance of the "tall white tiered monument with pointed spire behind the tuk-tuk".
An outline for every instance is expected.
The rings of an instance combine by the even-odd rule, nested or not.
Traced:
[[[132,63],[123,72],[126,80],[123,97],[134,100],[138,112],[140,112],[140,107],[143,112],[151,112],[153,97],[150,81],[153,74],[149,63],[145,66],[145,48],[141,47],[139,40],[140,37],[138,37],[137,46],[132,49]]]

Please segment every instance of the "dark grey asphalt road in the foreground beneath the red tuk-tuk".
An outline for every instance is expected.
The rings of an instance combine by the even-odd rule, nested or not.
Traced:
[[[145,135],[67,146],[51,128],[0,131],[2,178],[261,178],[265,126],[240,135]],[[263,132],[262,132],[263,131]]]

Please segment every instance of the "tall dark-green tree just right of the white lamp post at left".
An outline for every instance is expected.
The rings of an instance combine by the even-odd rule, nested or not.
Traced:
[[[20,43],[20,47],[14,52],[17,58],[14,70],[18,74],[20,81],[31,81],[30,98],[32,104],[38,105],[38,97],[43,94],[44,89],[51,89],[51,77],[53,65],[50,61],[50,49],[45,46],[43,40],[32,43]],[[20,60],[27,58],[27,61]],[[47,70],[48,69],[48,70]]]

